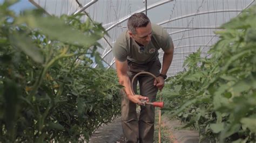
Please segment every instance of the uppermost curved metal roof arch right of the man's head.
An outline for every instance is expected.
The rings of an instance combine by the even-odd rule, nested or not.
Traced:
[[[190,15],[180,16],[180,17],[177,17],[177,18],[173,18],[173,19],[170,19],[170,20],[166,20],[166,21],[164,21],[164,22],[158,23],[158,25],[163,25],[163,24],[166,24],[166,23],[174,22],[174,21],[176,21],[176,20],[183,19],[183,18],[187,18],[187,17],[198,16],[198,15],[205,15],[205,14],[208,14],[208,13],[241,12],[241,11],[242,11],[241,9],[240,9],[240,10],[231,9],[231,10],[211,10],[211,11],[196,12],[196,13],[192,13],[192,14],[190,14]]]

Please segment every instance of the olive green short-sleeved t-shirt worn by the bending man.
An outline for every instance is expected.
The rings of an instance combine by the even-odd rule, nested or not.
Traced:
[[[112,49],[114,58],[118,61],[130,60],[135,63],[144,64],[158,59],[158,50],[167,51],[171,48],[172,39],[167,31],[156,24],[152,24],[152,37],[144,52],[139,52],[140,46],[130,38],[128,31],[123,32],[116,40]]]

